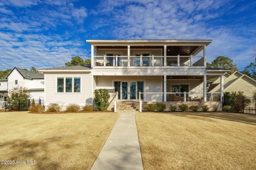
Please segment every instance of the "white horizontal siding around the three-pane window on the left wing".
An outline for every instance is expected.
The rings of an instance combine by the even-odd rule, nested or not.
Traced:
[[[81,93],[56,92],[57,77],[81,77]],[[45,74],[45,105],[59,103],[67,106],[70,103],[78,105],[92,104],[92,74],[91,73],[46,73]]]

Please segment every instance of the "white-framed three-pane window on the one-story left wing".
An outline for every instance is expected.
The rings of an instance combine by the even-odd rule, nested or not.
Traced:
[[[81,78],[57,78],[57,92],[81,92]]]

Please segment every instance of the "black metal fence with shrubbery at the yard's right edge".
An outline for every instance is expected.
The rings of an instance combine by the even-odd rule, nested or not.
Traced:
[[[224,97],[223,111],[245,114],[256,114],[255,97]]]

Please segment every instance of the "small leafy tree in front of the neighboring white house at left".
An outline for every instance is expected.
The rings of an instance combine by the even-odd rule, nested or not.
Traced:
[[[28,99],[30,92],[27,88],[14,87],[8,92],[9,109],[14,111],[26,111],[28,109]]]

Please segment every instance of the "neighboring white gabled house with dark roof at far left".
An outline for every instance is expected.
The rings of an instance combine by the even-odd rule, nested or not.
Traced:
[[[9,90],[19,86],[25,87],[30,91],[31,99],[44,99],[44,74],[14,67],[6,79],[0,80],[0,83],[0,94],[2,93],[5,98]],[[2,95],[0,101],[4,101]]]

